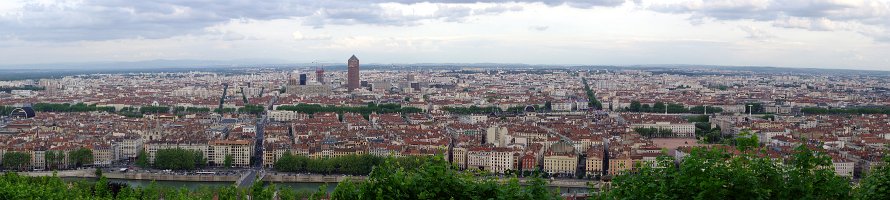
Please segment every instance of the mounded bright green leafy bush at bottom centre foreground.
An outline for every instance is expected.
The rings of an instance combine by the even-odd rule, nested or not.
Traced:
[[[343,182],[333,199],[558,199],[540,177],[521,186],[517,178],[505,183],[459,171],[441,157],[429,157],[420,167],[399,166],[388,159],[364,182]]]

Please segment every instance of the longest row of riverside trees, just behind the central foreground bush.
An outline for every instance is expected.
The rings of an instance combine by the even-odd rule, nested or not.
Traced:
[[[391,158],[392,162],[405,167],[420,167],[424,157],[405,156]],[[313,174],[348,174],[368,175],[375,166],[383,164],[385,157],[361,154],[346,155],[333,158],[309,158],[302,155],[285,153],[273,164],[280,172],[298,172]]]

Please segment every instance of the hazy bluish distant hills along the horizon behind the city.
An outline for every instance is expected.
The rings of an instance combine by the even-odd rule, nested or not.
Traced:
[[[346,70],[346,63],[294,63],[284,60],[147,60],[135,62],[82,62],[25,65],[0,65],[0,80],[52,78],[95,73],[147,73],[187,71],[228,71],[253,67],[311,69],[324,66],[325,70]],[[718,66],[718,65],[532,65],[522,63],[363,63],[365,70],[460,70],[479,69],[637,69],[671,74],[710,74],[707,70],[727,70],[764,74],[832,74],[890,76],[890,71],[787,68],[769,66]]]

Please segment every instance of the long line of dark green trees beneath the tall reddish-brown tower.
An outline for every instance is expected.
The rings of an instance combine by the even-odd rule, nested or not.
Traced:
[[[339,114],[343,113],[359,113],[363,116],[368,116],[371,113],[419,113],[423,112],[420,108],[415,107],[402,107],[399,104],[376,104],[376,103],[368,103],[367,106],[322,106],[318,104],[297,104],[297,105],[284,105],[278,106],[276,110],[287,110],[287,111],[296,111],[299,113],[306,113],[309,115],[315,113],[323,113],[323,112],[335,112]]]

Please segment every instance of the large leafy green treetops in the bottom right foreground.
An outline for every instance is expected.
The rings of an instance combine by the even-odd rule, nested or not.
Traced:
[[[756,139],[756,138],[753,138]],[[743,139],[738,139],[743,140]],[[744,142],[740,142],[744,143]],[[670,158],[660,158],[637,173],[620,175],[600,199],[886,199],[890,183],[880,170],[864,181],[862,188],[880,195],[855,193],[849,179],[834,173],[829,156],[798,146],[788,162],[779,164],[757,151],[740,145],[743,153],[726,149],[696,148],[679,167]],[[874,177],[884,177],[874,178]],[[877,186],[876,186],[877,185]],[[875,198],[880,197],[880,198]]]

